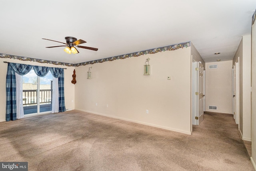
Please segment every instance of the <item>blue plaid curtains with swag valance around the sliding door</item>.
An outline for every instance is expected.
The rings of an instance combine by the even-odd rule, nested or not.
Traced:
[[[6,121],[16,120],[16,78],[15,72],[19,75],[27,74],[32,67],[36,75],[44,77],[50,70],[59,81],[59,112],[66,111],[64,98],[64,69],[25,65],[19,63],[8,63],[6,75]]]

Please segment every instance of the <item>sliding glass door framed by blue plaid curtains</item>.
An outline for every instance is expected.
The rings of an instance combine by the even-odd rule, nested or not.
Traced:
[[[39,77],[34,69],[22,76],[25,116],[48,113],[52,110],[52,74]]]

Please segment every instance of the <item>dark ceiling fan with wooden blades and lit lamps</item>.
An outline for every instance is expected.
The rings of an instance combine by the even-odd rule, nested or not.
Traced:
[[[44,39],[44,38],[42,38],[42,39]],[[80,46],[80,44],[86,43],[86,41],[84,41],[82,39],[77,40],[75,37],[65,37],[65,39],[66,39],[67,43],[63,43],[63,42],[60,42],[60,41],[56,41],[56,42],[65,44],[65,45],[62,45],[62,46],[66,46],[64,51],[66,53],[68,53],[68,54],[79,53],[78,50],[74,46],[81,47],[81,48],[84,48],[84,49],[90,49],[90,50],[93,50],[93,51],[98,51],[98,48],[87,47],[87,46]],[[50,40],[50,39],[45,39],[45,40]],[[50,41],[55,41],[55,40],[50,40]],[[46,47],[46,48],[51,48],[51,47],[61,47],[61,46],[50,46],[50,47]]]

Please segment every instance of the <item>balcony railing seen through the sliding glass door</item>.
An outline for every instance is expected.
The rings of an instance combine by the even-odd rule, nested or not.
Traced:
[[[52,103],[52,89],[40,90],[40,104]],[[37,104],[37,90],[23,90],[23,105]]]

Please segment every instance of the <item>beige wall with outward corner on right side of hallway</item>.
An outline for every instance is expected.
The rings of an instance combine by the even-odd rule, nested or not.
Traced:
[[[251,141],[251,35],[242,37],[233,65],[239,57],[239,130],[242,139]]]

